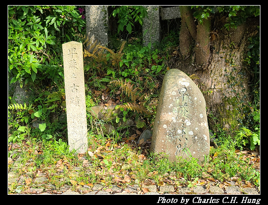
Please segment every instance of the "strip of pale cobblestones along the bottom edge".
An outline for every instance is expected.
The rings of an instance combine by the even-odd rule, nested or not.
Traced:
[[[153,180],[152,180],[153,181]],[[13,172],[8,175],[9,189],[11,189],[12,183],[25,184],[25,177],[16,176]],[[235,182],[225,182],[224,187],[220,188],[216,183],[211,183],[207,186],[197,185],[195,187],[174,187],[173,185],[157,186],[153,182],[153,185],[124,185],[124,187],[113,184],[108,187],[95,184],[93,187],[83,185],[77,188],[75,191],[71,190],[72,186],[63,185],[60,189],[47,183],[48,178],[40,176],[35,178],[35,185],[24,191],[23,194],[259,194],[259,192],[252,187],[243,187],[235,185]],[[243,183],[242,183],[243,184]]]

